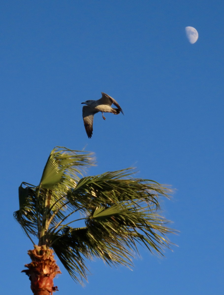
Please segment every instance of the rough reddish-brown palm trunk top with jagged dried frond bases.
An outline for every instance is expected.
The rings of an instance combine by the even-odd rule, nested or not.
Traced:
[[[53,250],[44,246],[34,246],[33,250],[28,251],[32,262],[25,264],[28,269],[23,270],[31,281],[31,290],[34,295],[49,295],[58,291],[57,286],[53,285],[53,278],[61,273],[54,260]]]

